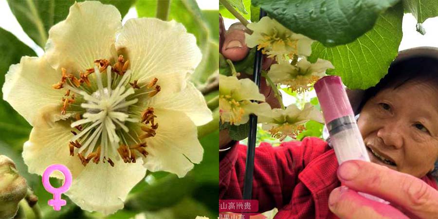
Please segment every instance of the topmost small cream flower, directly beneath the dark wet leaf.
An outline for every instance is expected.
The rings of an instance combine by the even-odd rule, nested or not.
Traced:
[[[263,17],[256,23],[247,26],[251,35],[245,34],[245,42],[252,48],[258,45],[258,50],[268,57],[277,59],[292,58],[293,55],[309,56],[314,40],[301,34],[296,34],[281,25],[278,21]]]

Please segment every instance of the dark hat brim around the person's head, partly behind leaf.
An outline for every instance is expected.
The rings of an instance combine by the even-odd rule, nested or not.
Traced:
[[[408,61],[412,58],[429,58],[429,59],[437,59],[438,61],[438,48],[437,47],[415,47],[411,49],[406,49],[399,51],[399,54],[391,63],[391,66],[395,64],[399,64],[405,61]],[[438,62],[437,62],[438,65]],[[385,76],[386,77],[386,76]],[[382,80],[381,80],[382,81]],[[349,90],[347,89],[348,99],[350,100],[351,107],[355,114],[358,114],[360,111],[360,107],[363,105],[364,96],[367,90]]]

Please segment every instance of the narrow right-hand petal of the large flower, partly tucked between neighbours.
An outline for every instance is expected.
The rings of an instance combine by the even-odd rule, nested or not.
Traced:
[[[154,106],[155,109],[184,112],[196,126],[204,125],[213,120],[204,96],[190,82],[187,83],[187,87],[183,91],[155,96],[151,99],[149,105]]]

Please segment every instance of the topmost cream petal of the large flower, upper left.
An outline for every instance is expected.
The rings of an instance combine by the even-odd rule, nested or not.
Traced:
[[[67,18],[49,31],[46,55],[55,69],[85,71],[96,59],[113,57],[116,33],[122,28],[116,7],[100,1],[75,2]]]

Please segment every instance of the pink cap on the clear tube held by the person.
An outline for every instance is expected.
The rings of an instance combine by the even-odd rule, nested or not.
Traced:
[[[326,124],[339,117],[354,115],[347,92],[339,76],[325,76],[315,83],[314,88]]]

